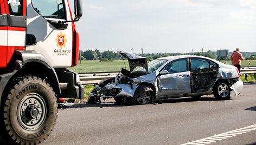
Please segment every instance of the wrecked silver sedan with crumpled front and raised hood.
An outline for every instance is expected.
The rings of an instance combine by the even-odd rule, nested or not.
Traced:
[[[87,103],[113,97],[117,103],[148,104],[166,98],[200,97],[214,94],[228,100],[233,90],[237,97],[243,87],[239,71],[203,56],[169,56],[147,63],[145,57],[119,52],[128,59],[130,70],[100,82]],[[136,67],[140,67],[134,70]],[[134,70],[134,71],[133,71]]]

